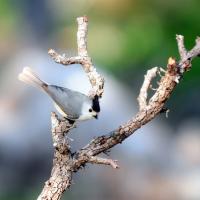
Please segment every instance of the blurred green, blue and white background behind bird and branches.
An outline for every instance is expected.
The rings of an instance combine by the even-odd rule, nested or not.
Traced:
[[[198,0],[0,0],[0,199],[36,199],[52,166],[55,109],[46,94],[17,80],[24,66],[86,93],[81,67],[58,65],[47,51],[76,55],[76,17],[89,17],[89,54],[106,79],[105,94],[99,120],[70,134],[75,151],[136,114],[146,70],[165,67],[170,56],[179,59],[175,35],[193,47],[199,6]],[[169,118],[161,114],[112,149],[119,170],[87,165],[63,199],[199,200],[199,65],[196,58],[167,102]]]

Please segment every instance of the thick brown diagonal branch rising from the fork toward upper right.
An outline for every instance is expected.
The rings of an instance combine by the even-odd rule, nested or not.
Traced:
[[[195,50],[193,51],[193,53],[191,53],[192,57],[195,57],[195,55],[199,55],[200,48],[198,49],[199,51]],[[159,82],[159,87],[149,100],[149,104],[144,109],[140,110],[133,119],[131,119],[124,125],[119,126],[118,129],[110,132],[107,135],[97,137],[84,148],[79,150],[75,154],[76,160],[74,162],[74,168],[78,170],[82,165],[86,163],[81,159],[83,156],[96,156],[102,152],[107,151],[115,145],[122,143],[137,129],[155,118],[161,112],[165,102],[170,97],[173,89],[177,85],[180,78],[179,67],[182,68],[183,65],[185,65],[183,60],[180,60],[179,63],[176,63],[175,59],[169,58],[167,70],[165,71],[164,76]]]

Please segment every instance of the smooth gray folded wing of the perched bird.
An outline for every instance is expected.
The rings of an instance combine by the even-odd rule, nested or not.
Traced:
[[[83,102],[90,101],[86,95],[80,92],[55,85],[48,85],[46,92],[70,119],[78,119]]]

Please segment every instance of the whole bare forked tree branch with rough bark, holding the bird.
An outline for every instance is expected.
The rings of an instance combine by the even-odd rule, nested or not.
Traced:
[[[48,53],[56,63],[62,65],[80,64],[91,83],[91,90],[88,95],[101,98],[104,92],[104,78],[96,71],[92,59],[88,55],[88,19],[85,16],[79,17],[77,18],[77,23],[78,55],[67,58],[65,55],[58,54],[53,49],[50,49]],[[109,165],[115,169],[119,168],[117,160],[101,158],[98,155],[122,143],[137,129],[155,118],[163,110],[165,102],[170,97],[175,86],[180,82],[183,74],[191,69],[192,59],[200,55],[200,38],[196,39],[196,44],[190,51],[186,50],[182,35],[177,35],[176,40],[180,60],[177,62],[174,58],[170,57],[166,70],[154,67],[147,71],[137,98],[139,104],[138,113],[117,129],[93,139],[85,147],[73,153],[71,152],[67,134],[74,128],[75,124],[66,119],[59,119],[54,112],[51,113],[54,146],[53,167],[51,176],[45,182],[38,200],[61,199],[63,192],[72,184],[73,173],[77,172],[87,163]],[[152,97],[147,100],[148,90],[152,89],[152,81],[159,75],[161,78],[158,87],[155,89]]]

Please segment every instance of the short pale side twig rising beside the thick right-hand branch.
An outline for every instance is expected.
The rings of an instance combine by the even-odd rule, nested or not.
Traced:
[[[139,109],[144,110],[147,106],[147,96],[148,96],[148,89],[151,85],[151,81],[154,77],[156,77],[156,74],[158,72],[158,67],[154,67],[147,71],[147,74],[144,76],[144,82],[140,89],[140,94],[138,96],[138,103],[139,103]]]

